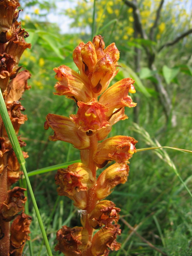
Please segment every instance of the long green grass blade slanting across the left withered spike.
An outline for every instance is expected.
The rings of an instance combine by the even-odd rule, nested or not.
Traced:
[[[9,114],[8,114],[7,108],[5,106],[5,102],[4,102],[1,90],[0,90],[0,114],[1,114],[1,117],[3,119],[4,126],[5,126],[5,129],[7,131],[9,140],[11,141],[12,148],[15,152],[15,155],[17,156],[17,159],[18,159],[18,161],[21,165],[21,168],[23,170],[23,173],[25,175],[25,179],[26,179],[26,182],[27,182],[27,185],[28,185],[28,190],[29,190],[29,193],[31,195],[31,199],[32,199],[35,211],[36,211],[36,216],[37,216],[39,226],[41,228],[41,232],[42,232],[42,235],[43,235],[43,238],[44,238],[47,253],[48,253],[49,256],[52,256],[51,248],[50,248],[49,243],[48,243],[48,239],[47,239],[47,236],[46,236],[46,233],[45,233],[43,222],[41,220],[39,209],[37,207],[35,196],[33,194],[33,190],[32,190],[32,187],[31,187],[28,175],[27,175],[27,171],[26,171],[26,168],[25,168],[25,159],[23,157],[23,154],[22,154],[22,151],[21,151],[21,148],[20,148],[20,144],[19,144],[19,141],[17,139],[17,135],[14,131],[11,120],[9,118]]]

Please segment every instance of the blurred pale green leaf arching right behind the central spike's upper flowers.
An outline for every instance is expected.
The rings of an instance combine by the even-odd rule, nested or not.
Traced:
[[[118,62],[119,63],[119,62]],[[146,97],[151,97],[149,92],[146,90],[145,86],[141,82],[139,76],[132,70],[132,68],[127,67],[124,63],[119,63],[122,67],[121,70],[123,71],[124,77],[131,77],[135,80],[135,89],[136,91],[142,92]]]

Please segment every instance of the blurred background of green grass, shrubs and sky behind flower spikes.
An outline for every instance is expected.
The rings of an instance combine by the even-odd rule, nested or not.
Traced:
[[[27,142],[28,172],[79,159],[79,151],[62,141],[52,142],[44,130],[45,116],[75,113],[74,101],[53,95],[52,68],[62,64],[77,71],[72,51],[92,35],[104,36],[106,45],[115,42],[120,51],[116,79],[136,80],[134,109],[126,109],[128,120],[114,125],[110,136],[128,135],[139,140],[137,148],[158,145],[189,149],[192,145],[192,22],[188,1],[97,0],[92,27],[93,1],[20,1],[22,26],[29,32],[31,49],[21,63],[32,74],[31,89],[23,95],[28,121],[20,129]],[[31,11],[32,10],[32,11]],[[52,13],[52,16],[50,16]],[[67,15],[68,32],[60,31],[55,19]],[[113,81],[115,82],[115,80]],[[110,255],[192,255],[191,197],[175,172],[191,190],[191,155],[170,149],[134,154],[130,176],[109,196],[120,207],[122,248]],[[62,225],[80,225],[76,209],[67,197],[59,197],[54,184],[56,171],[30,177],[36,201],[47,230],[53,255],[55,233]],[[47,255],[29,198],[33,217],[31,240],[34,255]],[[131,232],[130,225],[137,229]],[[156,248],[149,246],[148,240]],[[158,252],[159,249],[161,252]],[[29,254],[28,245],[25,247]]]

